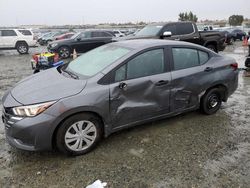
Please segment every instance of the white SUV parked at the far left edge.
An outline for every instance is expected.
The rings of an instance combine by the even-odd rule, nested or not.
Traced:
[[[29,47],[35,47],[34,34],[29,29],[0,29],[0,50],[16,49],[27,54]]]

